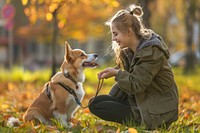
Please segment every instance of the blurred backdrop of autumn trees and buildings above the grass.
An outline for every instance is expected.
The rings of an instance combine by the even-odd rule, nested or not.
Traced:
[[[105,22],[119,9],[138,4],[147,28],[169,47],[170,63],[184,73],[200,63],[200,0],[0,0],[0,67],[56,72],[64,43],[112,62]],[[108,52],[106,52],[108,51]]]

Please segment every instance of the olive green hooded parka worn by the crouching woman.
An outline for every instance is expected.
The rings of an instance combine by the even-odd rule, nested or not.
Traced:
[[[135,53],[123,50],[125,70],[119,70],[110,92],[126,97],[135,121],[149,129],[178,119],[178,90],[168,59],[168,49],[155,33],[140,41]],[[169,113],[172,111],[175,115]]]

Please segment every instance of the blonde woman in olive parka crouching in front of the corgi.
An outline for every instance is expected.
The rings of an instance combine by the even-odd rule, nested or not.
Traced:
[[[94,115],[118,123],[169,127],[178,119],[178,91],[163,39],[142,24],[143,11],[131,5],[107,23],[112,33],[117,68],[106,68],[99,79],[115,77],[109,95],[90,104]],[[123,66],[121,69],[120,66]]]

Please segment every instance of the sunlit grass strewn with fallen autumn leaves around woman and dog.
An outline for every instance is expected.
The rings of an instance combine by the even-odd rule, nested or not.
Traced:
[[[84,88],[86,96],[83,105],[94,96],[97,87],[97,73],[103,68],[87,69]],[[174,68],[175,79],[180,92],[179,119],[171,127],[159,129],[162,133],[197,133],[200,130],[200,68],[195,74],[183,75],[180,68]],[[72,123],[73,128],[62,127],[54,121],[53,126],[35,125],[24,123],[22,115],[37,96],[41,87],[49,80],[50,70],[39,70],[35,72],[26,71],[23,68],[14,67],[11,71],[0,68],[0,132],[144,132],[142,127],[128,127],[113,122],[101,120],[93,116],[88,109],[79,109]],[[114,83],[114,79],[105,80],[100,94],[107,94]],[[7,126],[8,118],[18,118],[20,125],[16,127]]]

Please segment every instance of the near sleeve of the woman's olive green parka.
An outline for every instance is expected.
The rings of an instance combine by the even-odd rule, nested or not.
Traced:
[[[131,73],[119,70],[115,76],[119,88],[127,94],[143,92],[151,84],[162,67],[164,53],[157,47],[148,47],[135,58],[138,60],[135,65],[132,65]]]

